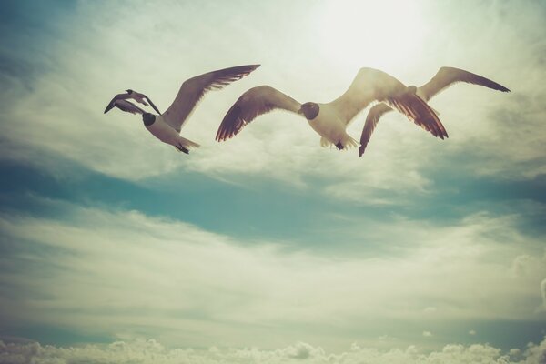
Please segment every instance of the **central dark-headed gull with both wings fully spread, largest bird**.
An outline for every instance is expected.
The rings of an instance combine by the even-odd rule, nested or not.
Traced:
[[[339,150],[357,147],[359,143],[346,132],[350,121],[373,101],[384,102],[396,108],[434,136],[448,137],[438,116],[415,90],[404,86],[398,79],[374,68],[361,68],[349,89],[328,104],[298,103],[290,96],[271,86],[250,88],[227,111],[220,124],[216,139],[225,141],[256,117],[274,109],[284,109],[305,116],[321,136],[320,146],[335,146]]]

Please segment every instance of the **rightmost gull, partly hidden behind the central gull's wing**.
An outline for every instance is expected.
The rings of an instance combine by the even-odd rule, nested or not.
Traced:
[[[415,88],[416,95],[420,96],[420,98],[425,102],[428,102],[430,98],[436,96],[441,91],[458,82],[486,86],[488,88],[492,88],[493,90],[499,90],[502,92],[510,92],[508,88],[491,81],[489,78],[485,78],[455,67],[440,67],[440,70],[436,73],[436,75],[433,76],[425,85],[420,87],[410,86],[410,88]],[[366,123],[364,124],[364,129],[362,130],[362,136],[360,136],[359,157],[362,157],[364,154],[364,150],[368,145],[371,133],[373,133],[373,130],[379,123],[379,118],[391,110],[392,108],[384,104],[376,105],[369,109],[368,116],[366,116]],[[438,112],[436,112],[436,114],[438,114]]]

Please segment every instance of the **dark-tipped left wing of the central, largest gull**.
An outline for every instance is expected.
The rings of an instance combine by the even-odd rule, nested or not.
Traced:
[[[298,114],[301,104],[271,86],[250,88],[229,108],[218,127],[217,141],[227,140],[256,117],[275,109],[284,109]]]

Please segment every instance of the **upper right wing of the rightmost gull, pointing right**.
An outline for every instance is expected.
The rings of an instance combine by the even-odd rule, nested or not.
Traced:
[[[419,87],[419,93],[425,101],[429,101],[432,96],[439,94],[442,90],[457,82],[466,82],[472,85],[486,86],[493,90],[510,92],[508,88],[491,81],[489,78],[459,68],[440,67],[436,75],[434,75],[429,82]]]

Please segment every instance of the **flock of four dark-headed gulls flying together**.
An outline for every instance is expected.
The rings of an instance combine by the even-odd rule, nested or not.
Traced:
[[[188,154],[191,148],[199,145],[180,136],[180,130],[199,100],[207,91],[221,89],[248,76],[258,66],[260,65],[230,67],[189,78],[182,84],[175,100],[165,113],[161,113],[146,95],[127,89],[126,93],[112,98],[106,106],[105,114],[114,107],[128,113],[141,114],[144,126],[152,135],[176,147],[178,151]],[[420,87],[405,86],[395,77],[378,69],[361,68],[349,89],[328,104],[315,102],[300,104],[271,86],[250,88],[227,111],[217,130],[216,140],[225,141],[238,135],[243,126],[275,109],[305,116],[309,126],[321,136],[322,147],[335,146],[339,150],[359,147],[359,157],[362,157],[379,118],[392,109],[407,116],[410,121],[433,136],[443,139],[448,137],[448,133],[440,122],[439,113],[428,105],[428,101],[457,82],[510,92],[508,88],[488,78],[454,67],[441,67],[429,82]],[[157,115],[146,112],[129,99],[144,106],[151,106]],[[379,104],[370,108],[358,142],[347,134],[347,126],[372,102]]]

